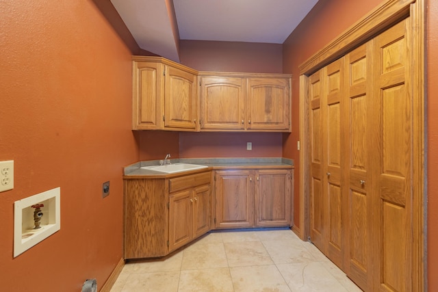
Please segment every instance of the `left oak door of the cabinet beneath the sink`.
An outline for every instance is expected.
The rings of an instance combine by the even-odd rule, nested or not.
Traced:
[[[169,251],[172,251],[192,239],[192,190],[173,194],[169,200]]]

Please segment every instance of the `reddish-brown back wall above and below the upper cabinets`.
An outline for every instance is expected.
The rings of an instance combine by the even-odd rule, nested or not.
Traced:
[[[200,71],[281,73],[281,44],[181,40],[181,63]],[[281,157],[281,133],[180,133],[180,157]],[[253,150],[246,150],[253,142]]]

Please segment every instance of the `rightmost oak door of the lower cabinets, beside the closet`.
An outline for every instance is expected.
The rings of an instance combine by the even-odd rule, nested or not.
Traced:
[[[292,175],[290,170],[259,170],[256,174],[256,226],[291,226]]]

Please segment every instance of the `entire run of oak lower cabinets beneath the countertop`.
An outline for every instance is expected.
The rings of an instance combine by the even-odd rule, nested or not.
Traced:
[[[172,178],[125,177],[123,258],[166,256],[212,227],[292,226],[292,172],[216,170],[215,200],[211,171]]]

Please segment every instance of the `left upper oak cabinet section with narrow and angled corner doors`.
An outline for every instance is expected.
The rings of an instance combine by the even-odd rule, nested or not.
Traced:
[[[133,130],[197,131],[197,71],[162,57],[133,60]]]

